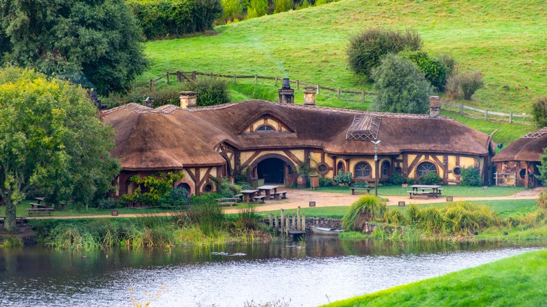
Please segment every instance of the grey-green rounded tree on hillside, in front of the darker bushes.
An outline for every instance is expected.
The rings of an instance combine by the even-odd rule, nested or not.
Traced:
[[[397,55],[387,55],[372,71],[378,91],[372,109],[380,112],[426,114],[433,87],[416,64]]]

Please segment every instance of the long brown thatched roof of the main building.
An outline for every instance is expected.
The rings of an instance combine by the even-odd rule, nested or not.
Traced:
[[[242,133],[263,116],[277,118],[294,133]],[[485,156],[489,137],[446,116],[385,114],[302,104],[248,100],[215,107],[157,109],[128,104],[103,113],[116,129],[114,156],[123,168],[182,168],[221,165],[222,142],[240,150],[320,148],[337,155],[403,151]],[[356,137],[361,135],[361,137]],[[353,137],[352,137],[353,136]]]

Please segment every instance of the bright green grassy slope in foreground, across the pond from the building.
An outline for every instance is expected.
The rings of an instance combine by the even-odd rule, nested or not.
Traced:
[[[546,306],[546,268],[547,250],[527,252],[323,307]]]

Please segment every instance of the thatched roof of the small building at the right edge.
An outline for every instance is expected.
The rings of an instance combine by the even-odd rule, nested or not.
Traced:
[[[509,144],[492,158],[492,162],[541,161],[543,149],[547,147],[547,127],[541,128]]]

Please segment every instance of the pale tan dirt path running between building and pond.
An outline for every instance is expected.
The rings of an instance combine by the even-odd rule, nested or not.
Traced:
[[[536,188],[527,191],[521,191],[511,196],[498,196],[498,197],[454,197],[454,201],[460,200],[509,200],[509,199],[535,199],[538,198],[539,193],[545,190],[545,188]],[[273,211],[281,209],[295,209],[297,207],[309,207],[309,202],[315,201],[316,207],[332,207],[332,206],[350,206],[359,195],[351,195],[346,193],[324,193],[307,190],[286,189],[288,199],[280,201],[269,200],[265,205],[260,205],[255,208],[255,211]],[[399,201],[405,201],[407,205],[424,204],[424,203],[442,203],[445,198],[431,198],[431,199],[409,199],[408,196],[380,196],[382,198],[388,198],[388,205],[398,205]],[[224,213],[237,213],[236,208],[226,208]],[[154,216],[169,216],[174,215],[174,212],[165,213],[150,213],[146,214]],[[143,214],[119,214],[119,217],[139,217]],[[96,219],[100,217],[112,217],[110,215],[78,215],[70,217],[29,217],[29,219]]]

